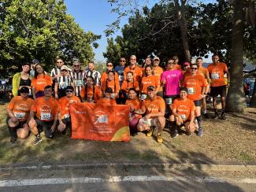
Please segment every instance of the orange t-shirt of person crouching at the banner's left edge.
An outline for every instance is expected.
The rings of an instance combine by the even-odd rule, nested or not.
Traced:
[[[70,103],[76,103],[80,102],[80,98],[73,95],[71,98],[67,98],[66,96],[63,98],[60,98],[58,100],[58,104],[61,110],[61,119],[68,118],[70,116],[69,113],[69,104]]]

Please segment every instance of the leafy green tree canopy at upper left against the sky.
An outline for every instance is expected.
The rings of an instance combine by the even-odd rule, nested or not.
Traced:
[[[66,13],[63,0],[3,0],[0,2],[0,70],[38,59],[46,68],[56,57],[65,63],[73,58],[87,62],[94,57],[92,46],[100,39],[83,31]]]

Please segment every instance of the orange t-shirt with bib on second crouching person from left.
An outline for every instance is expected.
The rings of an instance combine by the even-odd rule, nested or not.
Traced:
[[[44,97],[41,97],[35,99],[31,110],[36,113],[39,120],[50,121],[54,120],[55,114],[59,112],[59,105],[55,98],[45,100]]]

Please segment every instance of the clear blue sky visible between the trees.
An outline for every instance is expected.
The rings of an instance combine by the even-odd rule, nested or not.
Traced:
[[[154,5],[153,0],[149,0],[150,4]],[[206,0],[204,2],[215,2],[215,0]],[[111,13],[112,7],[107,0],[65,0],[67,12],[75,18],[77,24],[83,28],[84,31],[92,31],[96,35],[102,35],[102,38],[97,42],[98,48],[95,49],[95,60],[106,61],[102,52],[106,52],[106,25],[111,24],[117,19],[116,13]],[[127,24],[127,19],[121,21],[121,26]],[[121,35],[121,31],[117,31],[112,37]]]

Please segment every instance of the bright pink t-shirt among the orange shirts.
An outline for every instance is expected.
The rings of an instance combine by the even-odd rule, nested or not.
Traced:
[[[165,80],[165,95],[176,95],[180,93],[180,80],[183,74],[180,70],[165,71],[161,73],[161,81]]]

